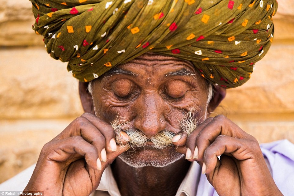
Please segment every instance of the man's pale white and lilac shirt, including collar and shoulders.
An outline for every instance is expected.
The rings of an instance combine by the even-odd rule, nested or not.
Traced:
[[[293,195],[294,190],[294,144],[280,140],[260,145],[263,156],[277,187],[285,196]],[[22,191],[27,185],[35,165],[0,184],[0,191]],[[120,196],[116,181],[108,167],[103,172],[98,188],[91,196]],[[178,188],[176,196],[217,196],[215,189],[201,174],[197,162],[193,162]]]

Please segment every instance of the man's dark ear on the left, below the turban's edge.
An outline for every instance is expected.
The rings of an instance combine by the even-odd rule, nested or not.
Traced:
[[[79,95],[85,112],[95,114],[92,96],[88,90],[88,82],[79,82]]]

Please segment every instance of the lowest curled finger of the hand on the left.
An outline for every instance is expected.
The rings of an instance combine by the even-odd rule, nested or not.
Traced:
[[[49,160],[64,162],[72,158],[79,159],[85,157],[86,163],[91,168],[101,169],[97,148],[85,141],[81,136],[55,140],[46,144],[44,147],[47,150],[46,154],[48,154]],[[79,154],[80,156],[76,156],[75,154]]]

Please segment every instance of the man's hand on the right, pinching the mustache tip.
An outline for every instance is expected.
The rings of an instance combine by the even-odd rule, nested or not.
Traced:
[[[206,119],[173,144],[187,160],[202,166],[219,195],[282,195],[258,141],[225,116]]]

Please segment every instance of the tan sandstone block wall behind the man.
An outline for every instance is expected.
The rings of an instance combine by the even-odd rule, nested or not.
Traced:
[[[294,142],[294,2],[280,0],[273,45],[251,79],[216,110],[259,142]],[[0,183],[35,163],[42,146],[83,113],[78,82],[31,30],[31,2],[0,0]]]

